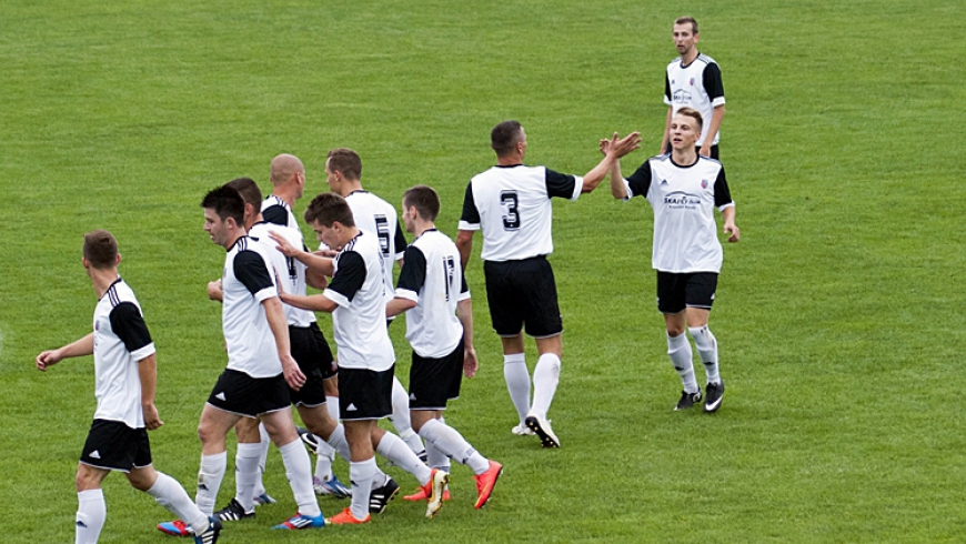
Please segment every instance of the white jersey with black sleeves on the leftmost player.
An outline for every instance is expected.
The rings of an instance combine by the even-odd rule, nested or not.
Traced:
[[[154,353],[154,343],[134,292],[118,278],[94,309],[95,420],[144,426],[138,362]]]

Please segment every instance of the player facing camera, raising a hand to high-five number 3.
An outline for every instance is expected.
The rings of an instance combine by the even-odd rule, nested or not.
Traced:
[[[702,115],[682,108],[671,120],[670,154],[652,157],[626,180],[621,163],[611,167],[611,194],[625,201],[645,197],[654,209],[654,243],[651,265],[657,271],[657,310],[667,329],[667,354],[681,376],[684,391],[675,410],[701,402],[694,376],[691,344],[694,340],[707,374],[704,411],[721,407],[724,380],[718,370],[717,340],[707,328],[723,251],[717,240],[714,210],[721,211],[728,242],[737,242],[735,204],[721,162],[695,152]],[[607,152],[611,142],[601,141]]]

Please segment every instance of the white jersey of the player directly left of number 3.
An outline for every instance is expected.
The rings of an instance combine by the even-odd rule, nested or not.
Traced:
[[[456,349],[463,325],[456,304],[470,298],[456,244],[442,232],[423,232],[406,248],[395,296],[416,306],[406,312],[406,340],[422,357],[439,359]]]

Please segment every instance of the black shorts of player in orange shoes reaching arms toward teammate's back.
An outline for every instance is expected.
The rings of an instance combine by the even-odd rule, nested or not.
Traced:
[[[339,413],[343,421],[381,420],[392,415],[395,365],[382,372],[339,369]]]

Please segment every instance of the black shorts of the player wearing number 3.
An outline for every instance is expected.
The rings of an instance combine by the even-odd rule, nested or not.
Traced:
[[[516,336],[524,323],[526,334],[537,339],[563,332],[553,269],[545,256],[483,261],[483,274],[496,334]]]

